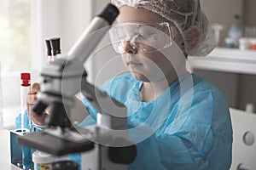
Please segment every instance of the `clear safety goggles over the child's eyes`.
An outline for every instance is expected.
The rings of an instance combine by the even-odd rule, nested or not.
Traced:
[[[151,53],[172,45],[172,30],[167,22],[156,24],[120,23],[109,30],[110,40],[118,54],[125,53],[125,46]]]

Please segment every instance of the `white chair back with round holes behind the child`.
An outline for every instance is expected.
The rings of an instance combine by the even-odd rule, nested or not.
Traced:
[[[230,113],[233,125],[233,151],[230,170],[256,169],[256,115],[236,109],[230,109]]]

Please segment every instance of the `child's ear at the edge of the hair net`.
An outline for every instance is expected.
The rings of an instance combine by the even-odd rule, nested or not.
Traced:
[[[201,31],[197,26],[190,26],[186,31],[184,31],[184,42],[186,48],[189,50],[195,48],[197,42],[199,42],[201,37]]]

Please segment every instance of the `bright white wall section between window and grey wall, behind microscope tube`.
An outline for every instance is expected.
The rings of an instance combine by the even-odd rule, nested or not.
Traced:
[[[40,63],[46,63],[45,39],[61,37],[62,54],[77,40],[92,17],[91,0],[34,1],[34,44]]]

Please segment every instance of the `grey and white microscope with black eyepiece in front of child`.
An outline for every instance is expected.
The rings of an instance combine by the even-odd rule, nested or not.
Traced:
[[[75,42],[67,56],[55,59],[41,72],[41,92],[33,111],[49,111],[49,128],[18,137],[18,143],[54,156],[81,153],[82,170],[128,169],[137,156],[129,140],[125,105],[87,82],[84,62],[119,14],[108,4]],[[98,112],[96,124],[74,125],[69,118],[75,95],[81,93]]]

